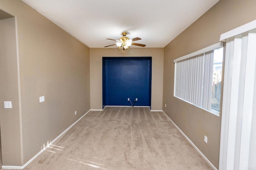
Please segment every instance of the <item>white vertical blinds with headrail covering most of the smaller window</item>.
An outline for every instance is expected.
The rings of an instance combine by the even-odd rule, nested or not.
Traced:
[[[212,111],[214,49],[220,47],[222,43],[217,43],[192,53],[196,56],[189,54],[174,60],[174,96]]]

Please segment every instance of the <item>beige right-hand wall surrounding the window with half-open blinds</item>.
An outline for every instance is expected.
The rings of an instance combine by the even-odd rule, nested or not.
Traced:
[[[255,9],[255,0],[220,0],[164,48],[163,110],[216,168],[221,117],[173,97],[173,60],[217,43],[222,33],[256,20]]]

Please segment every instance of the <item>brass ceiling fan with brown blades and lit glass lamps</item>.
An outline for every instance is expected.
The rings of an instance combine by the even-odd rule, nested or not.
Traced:
[[[112,44],[112,45],[116,45],[118,47],[118,49],[123,49],[123,51],[130,48],[131,45],[137,45],[137,46],[140,46],[140,47],[145,47],[146,46],[144,44],[133,43],[133,41],[138,41],[141,38],[136,37],[136,38],[133,38],[133,39],[129,39],[129,37],[126,37],[126,34],[127,34],[126,32],[123,32],[122,33],[123,37],[121,37],[119,40],[110,39],[110,38],[107,38],[107,39],[117,41],[116,44]],[[108,45],[108,46],[105,46],[105,47],[110,47],[112,45]]]

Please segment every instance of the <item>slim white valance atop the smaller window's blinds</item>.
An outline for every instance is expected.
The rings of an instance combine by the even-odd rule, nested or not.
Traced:
[[[188,54],[188,55],[184,55],[184,56],[182,56],[182,57],[179,57],[178,59],[175,59],[175,60],[173,61],[173,63],[176,63],[176,62],[178,62],[178,61],[182,61],[182,60],[188,59],[188,58],[190,58],[190,57],[194,57],[194,56],[196,56],[196,55],[200,55],[200,54],[206,53],[206,52],[208,52],[208,51],[212,51],[212,50],[218,49],[218,48],[220,48],[220,47],[223,47],[223,42],[218,42],[218,43],[216,43],[216,44],[210,45],[210,46],[208,46],[208,47],[205,47],[205,48],[203,48],[203,49],[200,49],[200,50],[195,51],[195,52],[193,52],[193,53],[190,53],[190,54]]]

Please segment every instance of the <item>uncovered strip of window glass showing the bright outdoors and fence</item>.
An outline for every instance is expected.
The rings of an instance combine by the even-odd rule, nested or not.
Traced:
[[[211,108],[220,111],[223,47],[214,50]]]

